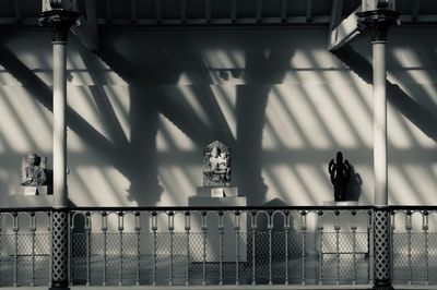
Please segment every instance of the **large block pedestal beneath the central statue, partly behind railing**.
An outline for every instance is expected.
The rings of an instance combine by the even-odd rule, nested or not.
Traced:
[[[225,188],[226,189],[226,188]],[[236,189],[236,188],[235,188]],[[245,196],[231,196],[231,197],[211,197],[192,195],[188,197],[188,206],[206,206],[206,207],[227,207],[227,206],[247,206],[247,198]],[[203,251],[203,237],[201,231],[201,216],[191,215],[191,242],[190,253],[192,262],[203,262],[201,254]],[[239,237],[235,234],[235,215],[232,212],[225,212],[223,215],[223,262],[236,262],[236,249],[238,239],[238,262],[247,262],[247,216],[240,215],[240,229]],[[218,216],[210,214],[206,216],[206,262],[220,262],[220,239],[218,231]],[[194,240],[196,239],[196,240]],[[196,253],[196,254],[194,254]]]

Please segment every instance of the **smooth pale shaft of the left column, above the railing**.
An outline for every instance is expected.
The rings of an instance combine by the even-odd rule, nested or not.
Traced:
[[[54,41],[54,207],[67,206],[67,44]]]

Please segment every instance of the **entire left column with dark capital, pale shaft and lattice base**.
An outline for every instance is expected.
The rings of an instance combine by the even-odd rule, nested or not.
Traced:
[[[67,38],[78,12],[62,10],[59,1],[38,15],[40,26],[52,31],[54,46],[54,204],[51,213],[51,288],[69,289],[68,283],[68,193],[67,193]]]

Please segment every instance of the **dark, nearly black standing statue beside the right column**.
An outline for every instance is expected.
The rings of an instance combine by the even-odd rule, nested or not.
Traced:
[[[336,160],[329,162],[328,171],[334,186],[334,201],[342,202],[346,200],[346,189],[351,179],[351,165],[347,159],[343,161],[343,154],[336,153]]]

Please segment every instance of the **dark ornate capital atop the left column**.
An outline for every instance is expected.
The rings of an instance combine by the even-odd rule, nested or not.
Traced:
[[[38,14],[38,25],[50,27],[54,43],[67,43],[70,27],[79,20],[79,12],[54,9]]]

